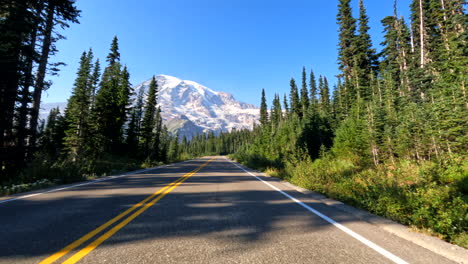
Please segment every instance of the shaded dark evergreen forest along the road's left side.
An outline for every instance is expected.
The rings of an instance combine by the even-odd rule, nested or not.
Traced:
[[[0,14],[0,193],[180,160],[181,140],[162,124],[156,81],[134,94],[117,37],[103,70],[91,49],[82,53],[65,112],[39,119],[46,75],[64,65],[49,61],[64,38],[57,32],[78,23],[75,1],[2,1]]]

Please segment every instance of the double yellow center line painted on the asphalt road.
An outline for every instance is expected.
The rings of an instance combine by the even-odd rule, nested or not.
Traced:
[[[213,158],[214,159],[214,158]],[[70,258],[68,258],[67,260],[65,260],[63,263],[66,263],[66,264],[71,264],[71,263],[76,263],[78,262],[80,259],[82,259],[84,256],[86,256],[87,254],[89,254],[93,249],[95,249],[96,247],[98,247],[100,244],[102,244],[104,241],[106,241],[108,238],[110,238],[112,235],[114,235],[117,231],[119,231],[120,229],[122,229],[122,227],[126,226],[128,223],[130,223],[133,219],[135,219],[137,216],[139,216],[141,213],[143,213],[144,211],[146,211],[148,208],[150,208],[151,206],[153,206],[155,203],[157,203],[159,200],[161,200],[164,196],[166,196],[168,193],[170,193],[172,190],[174,190],[177,186],[179,186],[180,184],[182,184],[182,182],[184,182],[185,180],[187,180],[190,176],[194,175],[195,173],[197,173],[199,170],[201,170],[203,167],[205,167],[206,165],[208,165],[208,163],[210,163],[213,159],[210,159],[208,160],[207,162],[205,162],[204,164],[202,164],[200,167],[196,168],[195,170],[185,174],[184,176],[180,177],[179,179],[175,180],[174,182],[166,185],[164,188],[156,191],[155,193],[153,193],[152,195],[148,196],[147,198],[145,198],[144,200],[142,200],[141,202],[133,205],[132,207],[130,207],[129,209],[125,210],[123,213],[119,214],[118,216],[112,218],[111,220],[107,221],[106,223],[104,223],[103,225],[101,225],[100,227],[94,229],[93,231],[89,232],[88,234],[84,235],[83,237],[79,238],[78,240],[76,240],[75,242],[71,243],[70,245],[62,248],[61,250],[59,250],[58,252],[54,253],[53,255],[49,256],[48,258],[44,259],[43,261],[39,262],[39,264],[49,264],[49,263],[53,263],[55,262],[56,260],[58,260],[59,258],[65,256],[66,254],[68,254],[70,251],[72,251],[73,249],[79,247],[81,244],[83,244],[84,242],[88,241],[89,239],[91,239],[92,237],[94,237],[95,235],[99,234],[101,231],[103,231],[104,229],[108,228],[109,226],[111,226],[112,224],[116,223],[117,221],[119,221],[120,219],[124,218],[126,215],[132,213],[134,210],[136,210],[137,208],[141,207],[139,210],[137,210],[136,212],[134,212],[133,214],[131,214],[130,216],[128,216],[127,218],[125,218],[123,221],[121,221],[119,224],[115,225],[113,228],[111,228],[109,231],[107,231],[106,233],[104,233],[103,235],[101,235],[100,237],[98,237],[96,240],[94,240],[93,242],[91,242],[90,244],[88,244],[87,246],[85,246],[83,249],[81,249],[80,251],[78,251],[76,254],[74,254],[73,256],[71,256]],[[154,198],[154,199],[153,199]],[[153,199],[153,200],[151,200]],[[148,202],[150,201],[150,202]],[[148,203],[147,203],[148,202]]]

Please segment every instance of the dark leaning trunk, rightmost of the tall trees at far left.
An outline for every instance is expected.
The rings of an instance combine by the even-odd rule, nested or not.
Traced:
[[[44,90],[45,86],[45,74],[47,70],[47,62],[49,59],[50,53],[50,46],[52,44],[52,29],[54,27],[54,11],[55,6],[53,4],[49,4],[47,7],[47,18],[46,24],[44,29],[44,40],[42,42],[42,51],[41,57],[39,59],[39,66],[37,69],[36,75],[36,86],[34,87],[33,91],[33,102],[32,102],[32,109],[31,109],[31,139],[30,139],[30,146],[31,148],[35,148],[36,140],[37,140],[37,124],[39,119],[39,110],[41,105],[41,96],[42,91]]]

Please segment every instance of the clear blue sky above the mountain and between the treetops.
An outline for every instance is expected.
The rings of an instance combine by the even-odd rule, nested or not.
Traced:
[[[102,63],[117,35],[121,61],[136,85],[168,74],[225,91],[259,105],[287,93],[302,66],[333,83],[337,71],[337,0],[77,0],[80,24],[57,43],[51,59],[67,64],[51,78],[44,102],[71,94],[79,57],[92,48]],[[357,17],[358,1],[352,1]],[[393,14],[393,0],[364,0],[374,47],[380,50],[380,20]],[[408,17],[410,0],[399,0]],[[105,65],[103,65],[104,67]]]

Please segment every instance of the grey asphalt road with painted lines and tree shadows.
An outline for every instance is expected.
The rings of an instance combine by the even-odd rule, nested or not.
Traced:
[[[452,263],[252,175],[208,157],[0,200],[0,263]]]

